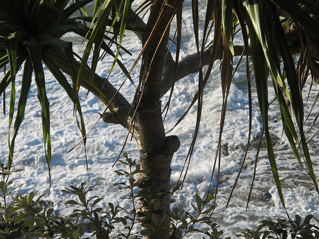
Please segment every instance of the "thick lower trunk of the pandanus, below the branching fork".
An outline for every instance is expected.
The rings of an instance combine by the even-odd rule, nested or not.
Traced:
[[[144,235],[144,239],[169,239],[169,221],[165,214],[169,210],[170,163],[180,141],[176,135],[165,136],[160,101],[140,106],[137,123],[141,170],[149,171],[141,173],[139,178],[144,203],[140,207],[142,227],[145,233],[150,233]],[[156,232],[151,232],[152,227]]]

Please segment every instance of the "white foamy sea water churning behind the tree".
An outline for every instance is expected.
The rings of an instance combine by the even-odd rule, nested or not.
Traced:
[[[188,12],[186,14],[190,13]],[[184,16],[185,24],[189,28],[188,36],[185,36],[185,40],[182,43],[182,48],[187,54],[192,53],[195,49],[192,36],[190,35],[190,28],[192,27],[190,24],[191,17],[188,16]],[[129,44],[125,45],[124,43],[133,53],[132,57],[123,54],[123,60],[128,68],[133,64],[135,57],[141,49],[140,42],[138,40],[132,40],[132,37],[134,36],[128,33],[128,37],[125,40],[129,42]],[[187,37],[188,40],[186,40]],[[75,52],[81,53],[83,51],[83,47],[79,46],[82,41],[81,39],[77,39],[72,34],[67,34],[65,39],[75,42]],[[184,54],[182,55],[184,56]],[[112,58],[105,58],[103,62],[99,63],[97,73],[102,77],[106,77],[112,61]],[[218,67],[219,62],[217,61],[211,79],[204,90],[204,107],[197,143],[183,189],[177,191],[172,196],[172,208],[182,207],[186,208],[186,211],[191,211],[190,203],[194,203],[195,193],[204,196],[208,187],[220,132],[219,120],[222,95]],[[132,78],[135,82],[138,82],[138,69],[139,66],[132,72]],[[16,77],[17,95],[21,85],[21,75],[22,73],[19,71]],[[246,201],[253,176],[254,158],[256,155],[255,149],[249,150],[246,164],[232,200],[230,201],[229,207],[225,207],[231,187],[240,169],[244,155],[243,148],[245,148],[247,144],[249,109],[244,76],[245,69],[241,69],[235,75],[234,84],[229,94],[228,111],[222,139],[223,154],[220,165],[221,172],[216,201],[217,208],[214,212],[216,222],[224,229],[225,235],[228,236],[234,236],[236,233],[242,232],[243,229],[248,227],[256,227],[262,219],[285,218],[286,216],[272,179],[265,149],[262,149],[260,152],[257,175],[254,183],[255,189],[252,192],[248,210],[246,211]],[[123,192],[113,187],[115,182],[120,182],[123,179],[114,173],[114,170],[119,169],[121,166],[116,165],[112,168],[111,165],[118,156],[127,131],[119,125],[106,124],[102,121],[98,122],[87,139],[88,169],[90,174],[90,177],[88,177],[82,146],[78,146],[75,150],[66,154],[66,152],[81,139],[81,133],[77,128],[76,120],[72,114],[72,103],[47,70],[45,70],[45,77],[48,99],[51,103],[52,138],[52,182],[50,195],[46,198],[54,201],[56,210],[62,211],[63,214],[70,214],[72,207],[64,206],[64,203],[70,196],[64,195],[60,190],[69,185],[80,185],[81,182],[96,182],[100,186],[96,187],[94,193],[104,198],[103,203],[101,203],[103,207],[107,207],[108,202],[118,203],[123,206],[124,201],[120,199]],[[196,77],[197,75],[193,74],[176,83],[169,114],[164,122],[166,130],[174,125],[176,120],[181,117],[190,104],[197,90]],[[124,75],[119,68],[116,67],[110,77],[110,81],[118,87],[123,79]],[[316,91],[318,92],[318,89],[311,95],[312,100],[317,94]],[[135,88],[130,82],[127,82],[121,90],[121,93],[126,96],[129,101],[132,100],[134,92]],[[6,94],[7,96],[9,95],[8,92],[6,92]],[[85,98],[85,95],[86,91],[81,90],[80,98],[83,116],[86,127],[89,129],[99,118],[97,112],[103,112],[105,106],[92,94],[89,94],[87,98]],[[162,99],[163,103],[165,103],[167,99],[168,95],[164,96]],[[256,107],[258,103],[255,92],[253,92],[253,101],[253,105]],[[8,109],[8,97],[6,98],[6,104],[6,108]],[[307,108],[306,110],[309,111],[311,104],[305,102],[305,107]],[[311,116],[312,119],[314,119],[318,107],[315,110]],[[270,107],[270,114],[271,120],[279,116],[276,104]],[[5,162],[8,155],[8,116],[1,115],[0,120],[0,160],[1,162]],[[171,164],[172,184],[178,179],[184,164],[191,143],[195,120],[196,107],[194,107],[185,119],[171,132],[171,134],[178,135],[181,141],[181,147],[174,154]],[[256,108],[252,113],[252,128],[252,139],[257,140],[261,133],[262,123]],[[280,138],[282,133],[281,123],[272,123],[271,128],[273,134],[277,138]],[[316,130],[317,128],[311,132],[314,133]],[[308,134],[308,137],[310,137],[310,135],[311,134]],[[310,144],[310,150],[313,156],[315,170],[318,172],[319,156],[317,155],[319,155],[319,152],[316,147],[317,144],[318,140],[315,139],[314,142]],[[124,151],[128,152],[129,156],[134,159],[137,159],[139,156],[134,141],[128,142]],[[298,213],[302,216],[306,216],[312,213],[319,216],[317,209],[317,205],[319,205],[318,195],[312,186],[310,178],[305,172],[302,172],[301,167],[294,158],[285,137],[283,137],[275,147],[275,154],[278,158],[278,168],[282,178],[288,212],[291,215]],[[34,84],[29,93],[26,116],[16,138],[14,165],[17,169],[23,169],[20,174],[16,175],[18,177],[16,183],[24,183],[23,187],[17,189],[17,192],[28,193],[32,190],[36,190],[39,191],[39,194],[47,193],[49,183],[48,168],[44,157],[41,112]],[[216,175],[213,179],[213,188],[215,185]],[[189,238],[196,237],[190,236]]]

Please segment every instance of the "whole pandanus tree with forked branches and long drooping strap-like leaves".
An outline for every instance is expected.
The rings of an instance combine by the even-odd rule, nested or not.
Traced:
[[[10,87],[9,128],[14,118],[15,75],[23,66],[21,93],[13,134],[9,134],[8,138],[9,169],[12,165],[15,136],[24,119],[32,72],[41,103],[45,156],[48,166],[50,165],[50,115],[42,66],[44,63],[74,103],[74,112],[79,116],[78,125],[83,141],[85,142],[87,134],[78,95],[81,86],[106,105],[106,110],[100,119],[107,123],[121,124],[128,130],[128,136],[133,135],[140,151],[141,170],[147,172],[139,176],[139,180],[144,182],[143,185],[161,189],[162,192],[169,191],[170,163],[173,154],[179,148],[180,141],[178,135],[166,135],[163,119],[169,114],[169,102],[174,97],[174,84],[183,77],[198,72],[198,90],[188,108],[189,110],[193,105],[197,105],[196,126],[185,159],[186,165],[191,159],[199,130],[203,89],[210,79],[215,61],[220,60],[223,105],[218,148],[215,161],[212,162],[213,173],[215,170],[219,171],[218,168],[215,169],[215,165],[222,160],[221,139],[227,99],[234,71],[237,69],[234,68],[233,59],[235,56],[240,56],[240,60],[245,60],[243,65],[246,65],[247,92],[250,99],[247,142],[249,145],[252,122],[251,78],[253,78],[269,163],[282,204],[285,207],[269,129],[270,100],[267,90],[269,75],[279,104],[283,131],[296,159],[318,191],[311,153],[307,146],[308,138],[304,130],[302,95],[307,80],[318,81],[319,5],[317,1],[208,0],[205,9],[201,9],[198,7],[198,0],[192,0],[192,33],[197,50],[182,59],[179,56],[183,30],[183,0],[144,1],[139,3],[137,9],[132,8],[131,0],[96,0],[92,15],[88,16],[85,5],[91,1],[0,0],[0,67],[9,65],[9,71],[0,82],[0,94],[4,96],[5,89]],[[148,11],[148,14],[144,14],[145,11]],[[74,16],[75,12],[78,16]],[[200,13],[204,14],[204,19],[199,18]],[[171,29],[172,23],[175,29]],[[126,54],[125,46],[122,46],[125,31],[133,31],[142,42],[141,52],[132,67],[133,69],[137,62],[142,60],[137,90],[132,102],[125,98],[130,96],[122,96],[118,92],[119,89],[116,89],[107,78],[95,74],[101,54],[106,53],[107,57],[114,58],[112,69],[118,64],[125,72],[126,78],[123,81],[128,78],[133,82],[130,77],[132,69],[127,70],[119,60],[120,54]],[[82,57],[75,57],[72,44],[60,39],[67,32],[74,32],[87,39]],[[242,36],[242,45],[234,45],[234,38],[237,35]],[[174,50],[170,46],[171,43],[175,46]],[[115,46],[112,48],[115,52],[112,52],[111,45]],[[89,58],[90,66],[87,65]],[[71,85],[62,72],[70,76]],[[169,100],[163,105],[161,98],[168,92]],[[242,167],[247,151],[248,146]],[[187,167],[184,169],[187,172]],[[209,185],[209,182],[207,184]],[[216,185],[217,193],[218,182]],[[210,190],[210,186],[207,190]],[[141,218],[155,216],[160,222],[158,228],[153,227],[151,230],[148,221],[142,220],[144,238],[171,237],[169,221],[165,216],[169,209],[168,197],[169,194],[160,197],[160,210],[154,210],[154,205],[141,206],[140,211],[143,212],[140,214]]]

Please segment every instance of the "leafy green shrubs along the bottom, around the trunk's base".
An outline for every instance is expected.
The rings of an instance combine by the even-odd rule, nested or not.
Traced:
[[[98,206],[103,200],[98,196],[90,196],[94,186],[81,183],[80,187],[70,186],[61,191],[66,194],[76,195],[77,200],[69,200],[65,205],[74,206],[69,217],[60,216],[53,210],[53,205],[43,201],[45,195],[37,196],[36,192],[29,195],[14,195],[14,190],[22,185],[13,186],[14,179],[10,175],[21,171],[8,172],[8,168],[0,163],[0,239],[139,239],[143,235],[157,233],[161,221],[158,218],[161,212],[160,197],[168,194],[162,189],[146,185],[138,179],[141,172],[136,160],[124,153],[125,160],[120,160],[123,169],[115,171],[118,175],[125,176],[125,180],[114,184],[123,190],[122,197],[126,207],[108,203],[108,208]],[[147,173],[143,171],[143,173]],[[140,190],[136,190],[140,187]],[[128,193],[129,192],[129,193]],[[137,193],[136,193],[137,192]],[[170,234],[172,239],[181,239],[195,234],[202,234],[203,239],[220,239],[223,231],[214,223],[212,212],[215,206],[211,203],[213,194],[203,200],[195,195],[195,204],[191,204],[192,212],[174,208],[168,211],[165,217],[170,221]],[[152,205],[154,210],[143,212],[141,208]],[[319,220],[313,215],[308,215],[304,220],[299,215],[295,219],[277,222],[262,221],[256,231],[246,229],[236,237],[245,239],[318,239]],[[148,228],[144,230],[143,228]],[[226,238],[230,239],[230,238]]]

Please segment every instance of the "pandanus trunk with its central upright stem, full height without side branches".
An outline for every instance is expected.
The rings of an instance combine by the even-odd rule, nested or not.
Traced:
[[[175,1],[176,2],[176,1]],[[172,4],[174,1],[172,1]],[[163,8],[166,8],[163,10]],[[163,10],[163,11],[162,11]],[[165,14],[160,15],[160,12]],[[161,117],[161,81],[164,72],[165,56],[169,36],[169,19],[175,12],[164,4],[163,0],[153,3],[147,28],[154,34],[148,41],[150,33],[143,35],[142,43],[146,46],[141,66],[136,121],[138,125],[138,145],[140,150],[142,227],[144,239],[169,239],[169,221],[166,212],[169,210],[170,163],[180,141],[177,136],[165,136]],[[158,21],[160,23],[158,24]],[[163,192],[166,192],[164,194]]]

